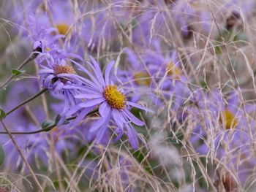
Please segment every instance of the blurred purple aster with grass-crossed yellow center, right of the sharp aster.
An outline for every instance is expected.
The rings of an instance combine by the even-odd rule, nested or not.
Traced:
[[[172,101],[172,110],[181,110],[182,104],[189,97],[188,80],[181,68],[176,50],[163,52],[158,40],[153,41],[154,47],[142,55],[143,61],[150,69],[151,77],[157,82],[152,84],[153,90],[162,99]]]

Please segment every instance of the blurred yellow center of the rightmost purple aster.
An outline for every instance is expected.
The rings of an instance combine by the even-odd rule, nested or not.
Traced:
[[[219,116],[219,121],[225,128],[235,128],[238,125],[238,120],[230,110],[224,110]]]

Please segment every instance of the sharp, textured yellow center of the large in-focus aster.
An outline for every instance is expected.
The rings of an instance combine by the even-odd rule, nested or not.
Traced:
[[[124,109],[127,103],[127,98],[121,91],[116,89],[116,85],[107,85],[104,91],[104,96],[108,104],[118,110]]]

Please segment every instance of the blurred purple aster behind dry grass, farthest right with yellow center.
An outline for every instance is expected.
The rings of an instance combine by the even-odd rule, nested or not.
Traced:
[[[190,107],[188,111],[191,112],[193,120],[203,120],[196,124],[192,133],[192,142],[196,143],[198,140],[204,139],[203,145],[199,142],[201,146],[198,147],[200,149],[198,152],[205,154],[208,153],[208,150],[215,150],[218,147],[218,133],[226,132],[227,129],[238,126],[241,111],[233,107],[233,102],[237,101],[237,98],[228,100],[226,105],[222,94],[217,90],[210,93],[197,90],[191,101],[195,103],[195,106]],[[239,116],[236,116],[237,112],[240,113]],[[206,115],[208,118],[203,118]],[[209,135],[212,137],[207,137]]]

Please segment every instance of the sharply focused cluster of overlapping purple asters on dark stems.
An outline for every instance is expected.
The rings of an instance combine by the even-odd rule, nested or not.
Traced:
[[[100,142],[110,124],[110,118],[113,118],[117,125],[115,132],[118,137],[116,140],[124,134],[125,125],[129,141],[132,147],[137,149],[137,134],[131,123],[135,123],[137,126],[144,126],[144,123],[132,115],[129,110],[131,107],[136,107],[140,110],[153,111],[140,104],[127,101],[124,91],[113,84],[110,70],[114,62],[108,64],[103,78],[99,64],[91,57],[92,65],[88,63],[94,72],[91,73],[83,67],[83,58],[79,55],[64,53],[64,50],[61,50],[61,45],[56,41],[61,40],[63,35],[52,34],[56,30],[41,28],[38,23],[32,23],[31,27],[36,28],[34,31],[37,31],[32,37],[34,50],[37,50],[34,53],[37,54],[36,63],[39,65],[39,82],[43,88],[52,90],[56,96],[62,95],[64,97],[65,104],[59,123],[63,123],[65,118],[77,114],[77,118],[72,124],[78,126],[91,110],[98,107],[101,118],[91,128],[91,131],[98,132],[97,142]],[[83,71],[90,80],[77,74],[71,64]]]

